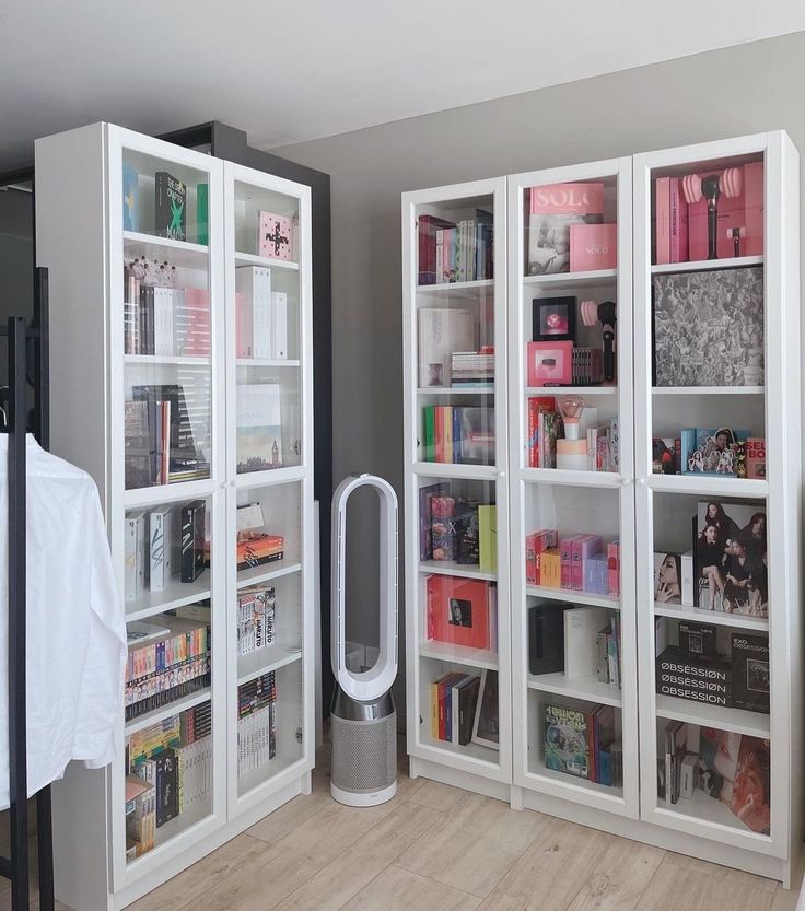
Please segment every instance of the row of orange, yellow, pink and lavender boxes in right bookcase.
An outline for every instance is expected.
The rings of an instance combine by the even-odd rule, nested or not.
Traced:
[[[544,528],[526,536],[525,572],[528,585],[619,595],[620,544]]]

